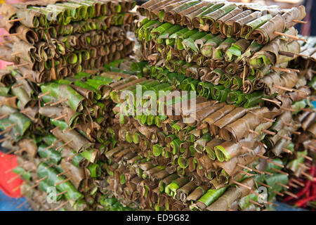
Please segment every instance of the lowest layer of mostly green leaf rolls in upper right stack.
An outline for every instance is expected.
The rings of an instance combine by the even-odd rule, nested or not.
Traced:
[[[303,77],[298,77],[296,72],[283,73],[282,75],[272,72],[261,79],[248,77],[243,84],[242,78],[227,77],[222,70],[216,69],[209,73],[217,79],[216,84],[211,84],[196,77],[186,76],[185,74],[190,73],[192,68],[183,68],[180,69],[180,72],[170,72],[168,69],[159,66],[150,67],[145,62],[132,63],[131,68],[138,71],[138,75],[169,82],[178,89],[197,91],[197,94],[204,98],[213,99],[220,103],[244,106],[244,108],[251,108],[258,104],[262,105],[263,99],[275,98],[275,96],[286,92],[284,89],[278,89],[277,86],[303,89],[303,85],[308,81]],[[206,68],[195,68],[195,71],[203,72],[203,70],[206,70]]]

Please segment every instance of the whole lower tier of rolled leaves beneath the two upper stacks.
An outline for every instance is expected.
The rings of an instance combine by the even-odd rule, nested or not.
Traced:
[[[41,191],[38,210],[258,210],[262,184],[286,194],[275,157],[300,129],[312,131],[305,93],[315,89],[244,108],[132,65],[129,74],[112,64],[39,86],[19,70],[1,72],[1,141],[18,155],[23,194]],[[45,202],[51,187],[61,193],[55,205]]]

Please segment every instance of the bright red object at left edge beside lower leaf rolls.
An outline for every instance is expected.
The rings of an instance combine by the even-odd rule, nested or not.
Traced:
[[[8,159],[8,160],[6,160]],[[18,161],[15,155],[6,155],[0,151],[0,190],[11,198],[21,197],[21,191],[18,186],[23,183],[23,180],[18,177],[8,184],[10,179],[17,176],[12,171],[6,173],[6,171],[18,167]],[[18,188],[18,189],[17,189]]]

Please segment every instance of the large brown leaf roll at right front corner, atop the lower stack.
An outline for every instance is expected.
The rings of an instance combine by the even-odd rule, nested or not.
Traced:
[[[268,108],[251,111],[236,122],[221,129],[220,137],[225,141],[239,142],[239,140],[249,135],[249,129],[255,129],[261,124],[263,117],[268,113],[270,113]]]

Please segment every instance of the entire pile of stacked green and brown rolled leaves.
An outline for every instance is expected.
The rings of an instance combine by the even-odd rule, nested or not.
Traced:
[[[119,22],[133,4],[104,2],[25,7],[45,11],[38,27],[59,26],[56,33],[70,37],[62,43],[74,46],[65,45],[69,56],[60,63],[76,62],[72,76],[53,69],[59,61],[46,50],[60,39],[45,42],[47,35],[48,48],[24,55],[52,60],[44,63],[51,66],[46,73],[0,72],[1,143],[18,155],[14,172],[25,180],[22,194],[34,209],[249,211],[269,210],[276,197],[301,197],[292,190],[294,179],[310,179],[315,165],[314,63],[302,53],[315,41],[298,41],[293,27],[305,8],[148,1],[138,8],[146,18],[135,30],[145,61],[92,70],[98,67],[86,68],[85,58],[91,46],[100,66],[103,46],[105,52],[117,50],[116,42],[129,46],[119,51],[133,49],[122,28],[128,26]],[[17,8],[12,19],[21,19]],[[47,22],[56,8],[59,17]],[[105,30],[91,22],[110,15],[117,22]],[[53,39],[55,32],[44,33]]]

